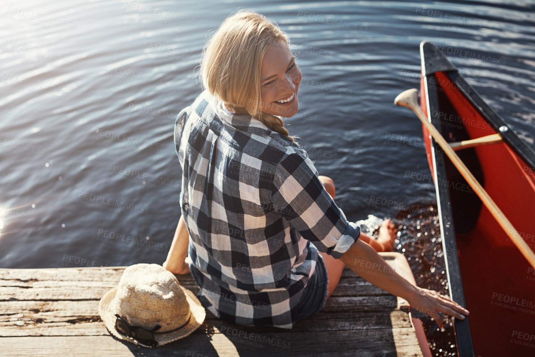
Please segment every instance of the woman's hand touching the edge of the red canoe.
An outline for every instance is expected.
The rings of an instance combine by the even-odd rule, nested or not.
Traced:
[[[416,287],[416,292],[407,301],[411,308],[433,317],[441,329],[444,328],[444,322],[438,313],[445,313],[461,320],[470,314],[467,309],[449,299],[448,296],[420,287]]]

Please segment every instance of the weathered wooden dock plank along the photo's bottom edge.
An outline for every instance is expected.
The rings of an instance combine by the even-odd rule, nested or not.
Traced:
[[[228,333],[227,333],[228,332]],[[375,334],[343,336],[329,331],[233,336],[234,331],[215,331],[190,335],[162,347],[151,349],[118,341],[111,336],[6,337],[0,353],[13,357],[124,357],[124,356],[422,356],[409,329],[384,329]],[[399,340],[399,337],[403,340]],[[318,342],[315,342],[318,341]],[[320,341],[320,342],[319,342]],[[289,348],[288,348],[289,347]],[[397,351],[396,351],[397,350]]]

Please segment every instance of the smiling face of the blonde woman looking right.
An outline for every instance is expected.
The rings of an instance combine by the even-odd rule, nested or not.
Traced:
[[[294,116],[299,109],[297,91],[302,77],[286,42],[275,41],[262,61],[262,111],[286,118]],[[288,99],[287,102],[281,102]]]

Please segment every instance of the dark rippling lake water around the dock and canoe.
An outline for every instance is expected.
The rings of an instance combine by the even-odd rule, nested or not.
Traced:
[[[533,1],[3,1],[0,267],[164,262],[180,217],[174,120],[201,92],[205,39],[239,8],[291,37],[303,81],[289,130],[347,218],[395,219],[418,285],[447,294],[422,127],[393,100],[419,88],[430,40],[535,148]],[[453,328],[424,325],[433,354],[452,355]]]

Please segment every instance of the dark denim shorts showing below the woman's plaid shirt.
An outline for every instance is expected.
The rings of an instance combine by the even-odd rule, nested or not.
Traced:
[[[316,270],[309,278],[307,286],[303,289],[301,300],[297,304],[297,320],[319,313],[327,300],[328,285],[327,267],[323,262],[323,257],[318,254]]]

